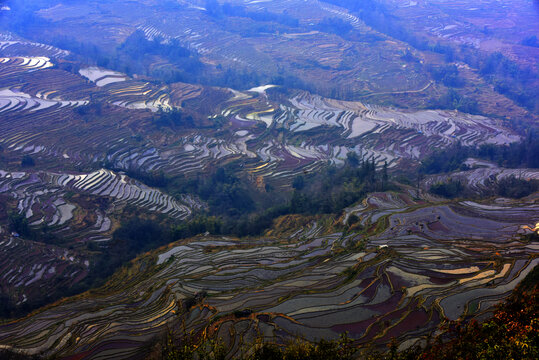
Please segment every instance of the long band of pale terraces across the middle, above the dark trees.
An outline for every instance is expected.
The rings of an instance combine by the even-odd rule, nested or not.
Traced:
[[[84,68],[80,75],[41,70],[48,66],[49,60],[44,59],[9,58],[0,64],[4,74],[0,85],[5,86],[0,92],[5,119],[0,124],[0,144],[53,164],[61,158],[72,166],[109,163],[119,169],[136,167],[178,175],[243,158],[253,177],[288,186],[297,174],[314,171],[328,161],[342,163],[348,152],[374,158],[380,166],[387,162],[398,167],[401,159],[418,160],[433,148],[456,141],[505,144],[519,139],[496,120],[459,112],[407,112],[306,92],[275,103],[265,94],[269,86],[246,92],[182,83],[159,86],[96,67]],[[33,65],[28,68],[28,64]],[[28,80],[20,88],[15,84],[21,76],[38,81]],[[75,94],[83,100],[64,100]],[[87,100],[90,97],[92,101]],[[207,97],[218,101],[208,107],[203,101]],[[114,118],[89,122],[74,111],[82,105],[103,104],[108,104]],[[209,123],[224,117],[229,136],[223,138],[216,130],[202,127],[137,140],[135,134],[153,131],[151,112],[182,104],[207,116],[204,121]],[[274,136],[282,130],[282,139],[277,140]]]

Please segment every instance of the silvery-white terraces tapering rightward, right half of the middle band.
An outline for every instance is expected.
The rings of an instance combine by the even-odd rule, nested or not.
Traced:
[[[404,112],[308,93],[279,105],[264,100],[255,103],[244,96],[230,101],[222,115],[238,124],[238,129],[247,128],[250,121],[256,121],[269,129],[284,128],[289,131],[290,138],[296,137],[292,140],[294,145],[279,146],[270,141],[253,150],[263,162],[250,167],[250,171],[270,179],[283,174],[279,170],[288,170],[289,164],[295,163],[299,170],[309,162],[319,165],[327,161],[342,163],[348,152],[355,152],[363,159],[374,158],[378,165],[387,162],[393,167],[398,166],[399,160],[417,160],[434,148],[457,141],[471,145],[506,144],[518,140],[518,136],[502,130],[499,123],[486,117],[434,110]],[[332,128],[336,131],[329,136],[320,135]],[[253,142],[248,130],[236,134]],[[304,169],[311,171],[312,168]]]

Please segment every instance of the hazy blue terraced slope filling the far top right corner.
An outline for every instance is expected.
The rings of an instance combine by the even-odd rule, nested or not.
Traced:
[[[538,30],[539,15],[533,2],[388,0],[384,3],[394,14],[407,18],[408,25],[419,33],[488,52],[499,51],[526,64],[537,64],[539,60],[537,49],[521,44],[528,34]]]

